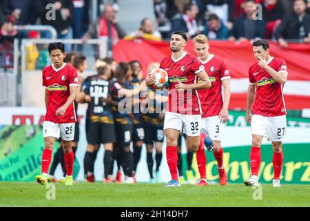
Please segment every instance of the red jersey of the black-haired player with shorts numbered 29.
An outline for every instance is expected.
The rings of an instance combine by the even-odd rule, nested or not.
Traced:
[[[63,64],[55,69],[53,65],[43,69],[43,86],[48,90],[48,107],[45,121],[56,124],[76,122],[74,102],[68,106],[63,116],[56,116],[56,110],[67,102],[70,96],[70,86],[79,86],[79,78],[74,67]]]

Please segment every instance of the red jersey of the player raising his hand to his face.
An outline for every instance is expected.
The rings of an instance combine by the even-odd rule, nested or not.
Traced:
[[[271,57],[267,64],[276,71],[287,72],[287,65],[283,59]],[[282,94],[284,85],[276,82],[257,62],[249,68],[249,84],[256,84],[252,108],[254,115],[276,117],[287,114]]]

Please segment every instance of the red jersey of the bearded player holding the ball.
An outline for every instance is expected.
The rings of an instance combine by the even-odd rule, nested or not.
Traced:
[[[165,57],[161,61],[160,68],[166,70],[169,77],[169,99],[166,111],[186,115],[201,115],[197,90],[185,90],[178,93],[175,89],[178,81],[183,84],[196,84],[196,74],[205,69],[197,57],[189,55],[187,52],[177,60],[173,59],[172,56]]]

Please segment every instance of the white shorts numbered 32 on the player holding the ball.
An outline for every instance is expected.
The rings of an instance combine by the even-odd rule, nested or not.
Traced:
[[[175,129],[187,136],[200,136],[201,115],[183,115],[180,113],[165,113],[165,129]]]

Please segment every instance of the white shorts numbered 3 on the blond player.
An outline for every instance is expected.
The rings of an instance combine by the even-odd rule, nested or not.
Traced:
[[[201,119],[202,127],[207,131],[211,140],[222,140],[224,125],[220,122],[219,116],[203,117]]]

